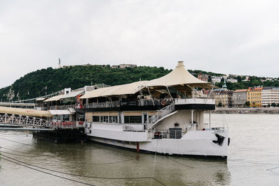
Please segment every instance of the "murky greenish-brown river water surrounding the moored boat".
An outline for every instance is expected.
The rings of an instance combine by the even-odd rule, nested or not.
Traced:
[[[155,160],[99,144],[54,144],[31,132],[0,131],[0,185],[279,185],[279,115],[212,114],[211,121],[229,127],[227,162]]]

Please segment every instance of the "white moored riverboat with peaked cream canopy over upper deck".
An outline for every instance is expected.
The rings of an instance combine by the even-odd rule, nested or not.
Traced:
[[[179,61],[158,79],[87,92],[85,132],[92,141],[140,152],[227,160],[228,130],[211,127],[215,101],[199,98],[197,88],[213,85]]]

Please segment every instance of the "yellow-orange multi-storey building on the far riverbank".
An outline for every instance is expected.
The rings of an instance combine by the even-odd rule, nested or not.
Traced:
[[[248,88],[247,101],[251,107],[262,107],[262,87]]]

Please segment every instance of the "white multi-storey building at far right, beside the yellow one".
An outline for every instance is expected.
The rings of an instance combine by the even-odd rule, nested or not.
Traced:
[[[279,103],[279,87],[262,88],[262,107],[269,107],[273,103]]]

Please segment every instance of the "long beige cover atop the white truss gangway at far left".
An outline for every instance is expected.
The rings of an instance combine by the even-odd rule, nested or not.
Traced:
[[[22,116],[52,117],[50,111],[40,111],[35,109],[19,109],[13,107],[0,107],[0,113],[16,114]]]

